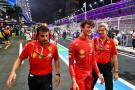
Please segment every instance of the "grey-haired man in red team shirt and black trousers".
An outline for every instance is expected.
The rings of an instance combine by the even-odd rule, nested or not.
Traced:
[[[118,79],[118,60],[117,60],[117,49],[114,40],[109,38],[108,35],[108,25],[106,23],[101,23],[98,27],[98,32],[100,34],[99,38],[95,41],[96,50],[96,60],[101,73],[105,79],[105,90],[113,90],[113,74],[112,74],[112,63],[114,66],[114,79]],[[97,82],[98,76],[93,71],[93,85]]]

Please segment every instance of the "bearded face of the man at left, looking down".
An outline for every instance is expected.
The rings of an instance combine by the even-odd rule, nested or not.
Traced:
[[[44,44],[49,40],[49,32],[39,32],[38,40]]]

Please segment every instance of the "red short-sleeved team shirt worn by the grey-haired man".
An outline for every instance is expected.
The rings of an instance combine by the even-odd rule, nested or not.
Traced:
[[[113,39],[108,37],[105,42],[102,43],[102,39],[96,38],[94,42],[97,63],[107,64],[111,61],[112,55],[117,55],[117,49]]]

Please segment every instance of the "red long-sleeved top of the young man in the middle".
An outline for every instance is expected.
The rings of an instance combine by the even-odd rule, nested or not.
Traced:
[[[75,62],[75,63],[74,63]],[[84,79],[88,76],[92,77],[92,67],[99,74],[94,59],[94,43],[92,40],[82,40],[78,37],[70,43],[69,46],[69,70],[71,76],[82,76]]]

